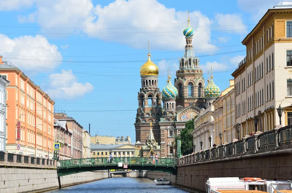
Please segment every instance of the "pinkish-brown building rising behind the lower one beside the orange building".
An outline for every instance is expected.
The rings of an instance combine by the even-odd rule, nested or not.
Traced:
[[[66,121],[66,125],[70,132],[72,131],[71,138],[68,139],[70,141],[71,149],[68,149],[68,154],[72,159],[79,159],[83,157],[83,145],[82,145],[82,132],[83,127],[76,122],[72,117],[68,117],[67,114],[64,113],[55,113],[55,120],[58,122]],[[69,152],[71,151],[71,152]]]

